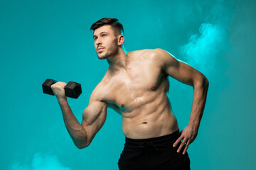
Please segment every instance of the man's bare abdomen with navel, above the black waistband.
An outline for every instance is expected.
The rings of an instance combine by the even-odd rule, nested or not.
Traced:
[[[122,130],[131,139],[169,135],[178,130],[169,98],[162,96],[132,112],[122,112]]]

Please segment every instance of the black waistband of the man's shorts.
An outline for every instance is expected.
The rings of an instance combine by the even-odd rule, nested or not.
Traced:
[[[180,135],[179,130],[172,132],[169,135],[164,135],[160,137],[151,137],[147,139],[131,139],[128,137],[125,137],[125,142],[129,144],[140,144],[142,142],[154,142],[154,143],[161,143],[161,142],[169,142],[170,140],[176,140],[177,137]]]

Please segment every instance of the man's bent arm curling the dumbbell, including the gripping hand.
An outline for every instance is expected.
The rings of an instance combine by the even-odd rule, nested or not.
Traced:
[[[100,91],[96,87],[90,96],[89,105],[82,113],[82,123],[80,124],[68,105],[64,91],[65,85],[65,83],[58,82],[53,84],[52,89],[60,104],[65,127],[75,146],[82,149],[90,145],[93,137],[95,137],[96,133],[105,123],[107,118],[107,103],[98,99],[97,94]]]

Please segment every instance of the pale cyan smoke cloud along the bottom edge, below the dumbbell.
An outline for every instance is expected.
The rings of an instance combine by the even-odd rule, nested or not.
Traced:
[[[11,170],[70,170],[58,161],[55,155],[35,154],[31,164],[13,164]]]

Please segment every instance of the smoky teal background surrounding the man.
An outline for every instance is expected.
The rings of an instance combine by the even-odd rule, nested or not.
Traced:
[[[108,64],[98,60],[90,26],[118,18],[127,51],[162,48],[210,81],[191,169],[255,169],[256,1],[0,1],[0,169],[117,169],[122,118],[112,110],[92,144],[77,149],[45,79],[77,81],[68,102],[82,120]],[[193,88],[170,79],[180,129]]]

